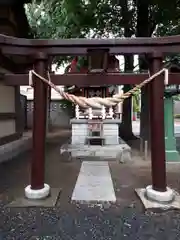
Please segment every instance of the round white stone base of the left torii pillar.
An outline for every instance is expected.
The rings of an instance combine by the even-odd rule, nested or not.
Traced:
[[[25,196],[28,199],[39,200],[48,197],[50,194],[50,186],[48,184],[44,184],[44,188],[42,189],[31,189],[31,185],[28,185],[25,188]]]

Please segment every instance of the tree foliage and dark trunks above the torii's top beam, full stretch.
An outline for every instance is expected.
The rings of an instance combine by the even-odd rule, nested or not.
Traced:
[[[179,2],[38,0],[26,13],[35,38],[150,37],[179,33]]]

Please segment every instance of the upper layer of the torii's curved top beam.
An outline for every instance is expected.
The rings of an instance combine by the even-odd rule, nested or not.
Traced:
[[[68,47],[89,48],[95,50],[98,48],[111,47],[149,47],[149,46],[177,46],[180,42],[180,35],[157,37],[157,38],[117,38],[117,39],[85,39],[85,38],[71,38],[71,39],[23,39],[15,38],[0,34],[0,43],[14,46],[30,46],[30,47]]]

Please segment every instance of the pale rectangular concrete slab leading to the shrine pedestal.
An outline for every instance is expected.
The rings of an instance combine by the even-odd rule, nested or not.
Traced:
[[[71,200],[83,203],[116,202],[108,162],[82,163]]]

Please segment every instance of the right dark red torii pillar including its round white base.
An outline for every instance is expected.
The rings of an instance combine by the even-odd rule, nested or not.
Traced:
[[[162,69],[161,54],[152,55],[150,69],[151,74]],[[174,193],[166,185],[163,74],[150,83],[150,126],[152,185],[146,188],[146,196],[160,203],[170,202],[174,199]]]

